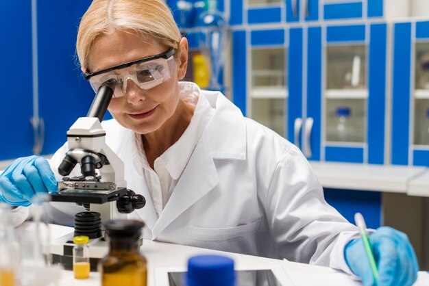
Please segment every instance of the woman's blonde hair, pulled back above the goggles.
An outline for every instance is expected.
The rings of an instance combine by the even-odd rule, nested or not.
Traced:
[[[82,70],[88,70],[88,54],[97,36],[116,30],[134,30],[166,48],[179,48],[180,31],[164,1],[94,0],[77,31],[76,51]]]

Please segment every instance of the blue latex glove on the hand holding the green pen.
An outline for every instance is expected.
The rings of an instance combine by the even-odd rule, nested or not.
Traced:
[[[415,283],[419,265],[405,233],[382,226],[369,235],[369,242],[378,267],[378,286]],[[345,246],[344,257],[352,272],[362,279],[363,285],[377,285],[361,238]]]

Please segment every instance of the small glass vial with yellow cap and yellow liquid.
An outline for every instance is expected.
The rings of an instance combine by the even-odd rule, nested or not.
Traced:
[[[76,236],[73,239],[75,247],[73,247],[73,274],[75,279],[89,278],[90,263],[89,263],[89,237],[85,235]]]

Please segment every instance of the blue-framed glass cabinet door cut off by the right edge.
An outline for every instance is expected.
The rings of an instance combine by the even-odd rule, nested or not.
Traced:
[[[392,164],[429,166],[428,55],[428,21],[393,25]]]

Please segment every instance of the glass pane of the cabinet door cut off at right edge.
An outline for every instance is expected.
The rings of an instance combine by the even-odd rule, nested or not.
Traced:
[[[429,42],[415,44],[414,145],[429,145]]]

